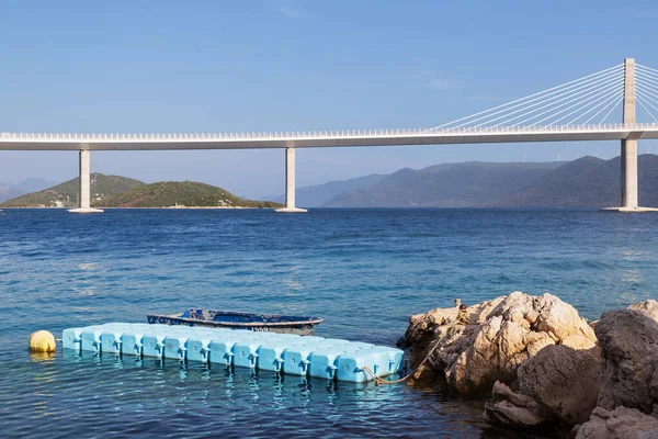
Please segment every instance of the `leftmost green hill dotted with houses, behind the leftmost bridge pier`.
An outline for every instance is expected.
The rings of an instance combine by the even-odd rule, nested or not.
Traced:
[[[102,201],[120,192],[146,185],[146,183],[125,177],[91,175],[91,204]],[[78,205],[79,182],[75,178],[61,184],[21,195],[0,204],[0,207],[75,207]]]

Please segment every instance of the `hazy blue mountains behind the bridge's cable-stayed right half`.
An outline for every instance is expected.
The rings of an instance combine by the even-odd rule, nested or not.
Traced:
[[[322,207],[603,207],[620,203],[619,157],[568,162],[465,162],[400,169],[299,188],[298,206]],[[639,199],[658,206],[658,156],[638,158]],[[370,181],[372,178],[374,180]],[[280,198],[281,199],[281,198]]]

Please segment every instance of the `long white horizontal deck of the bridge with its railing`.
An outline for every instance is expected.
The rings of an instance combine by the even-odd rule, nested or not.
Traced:
[[[658,138],[658,124],[237,134],[0,134],[0,149],[157,150],[449,145]]]

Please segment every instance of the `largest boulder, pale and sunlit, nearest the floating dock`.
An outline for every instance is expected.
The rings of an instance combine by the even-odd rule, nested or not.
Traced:
[[[496,381],[512,383],[519,367],[546,346],[591,349],[595,344],[587,320],[552,294],[514,292],[467,311],[466,324],[458,322],[456,307],[410,318],[402,346],[410,350],[411,365],[429,354],[416,380],[443,374],[457,393],[485,393]]]

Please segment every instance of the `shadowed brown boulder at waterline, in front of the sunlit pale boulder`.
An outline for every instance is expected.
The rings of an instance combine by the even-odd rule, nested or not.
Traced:
[[[521,364],[517,392],[496,383],[484,418],[490,424],[524,428],[582,424],[597,406],[599,372],[597,348],[547,346]]]

